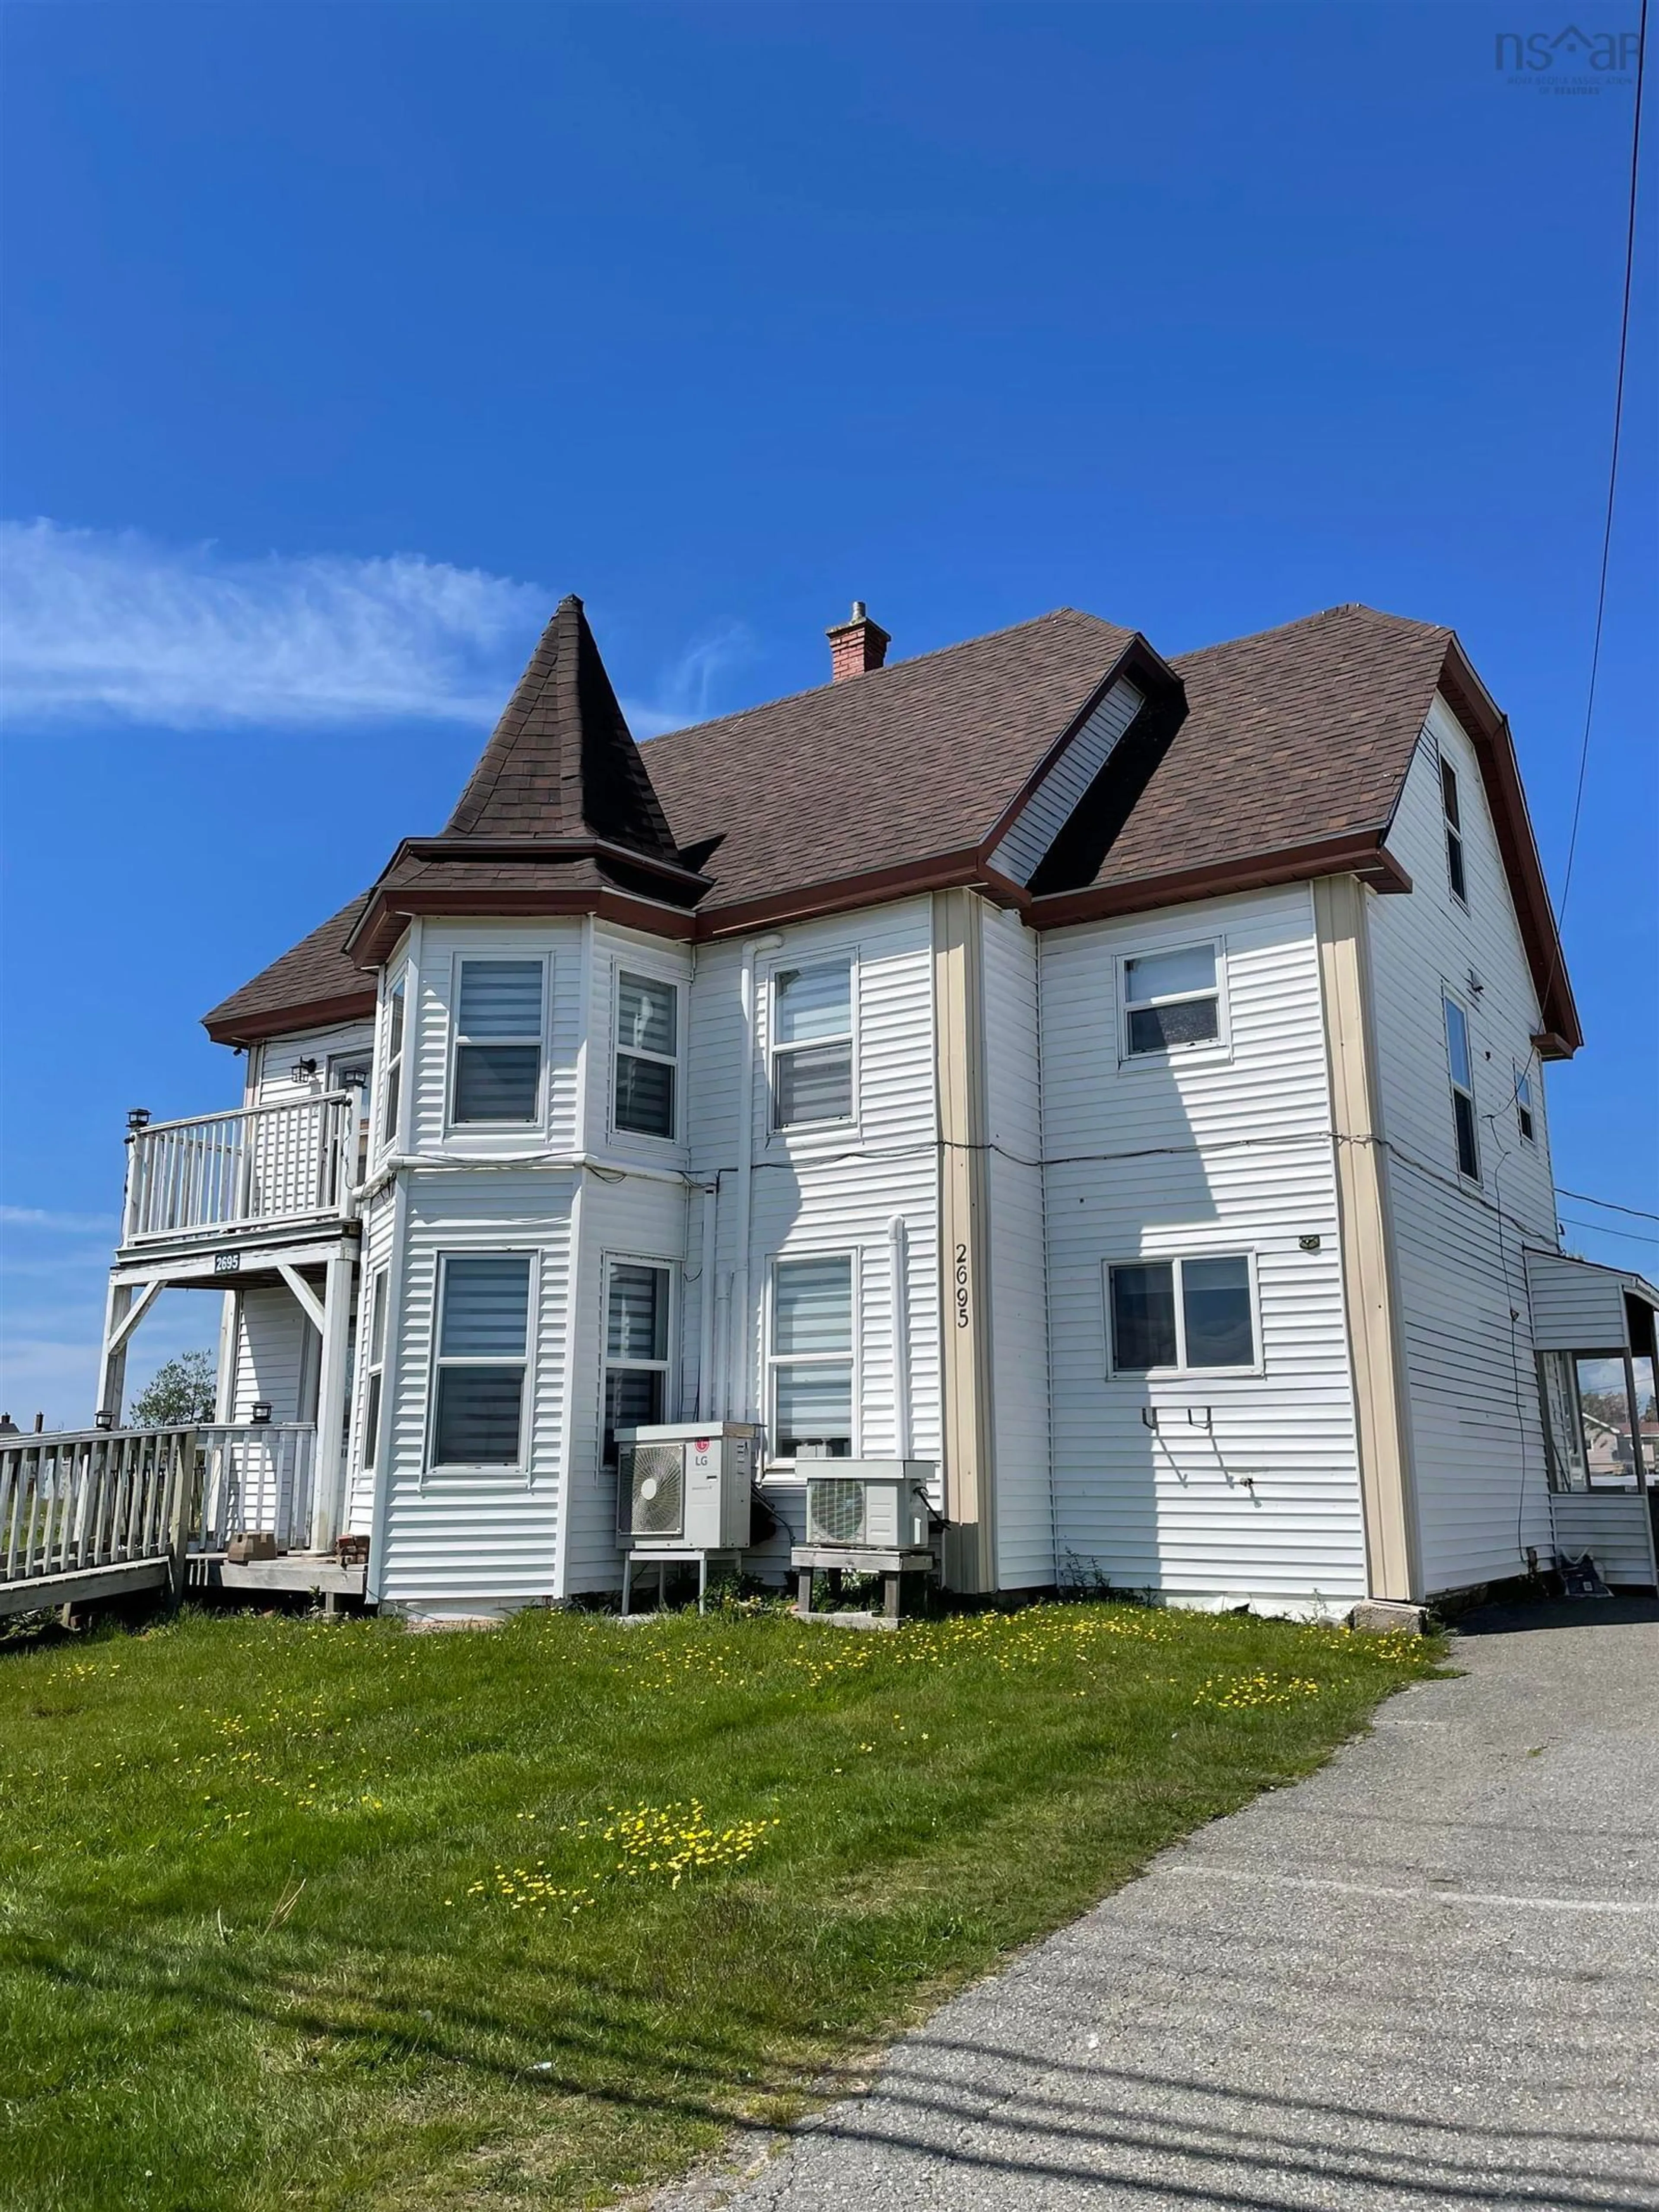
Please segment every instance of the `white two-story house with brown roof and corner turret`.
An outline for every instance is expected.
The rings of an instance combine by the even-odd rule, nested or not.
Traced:
[[[1455,635],[830,641],[637,745],[557,608],[442,834],[208,1015],[241,1108],[135,1128],[102,1405],[223,1290],[283,1542],[414,1613],[615,1588],[670,1418],[757,1425],[761,1571],[827,1451],[936,1462],[962,1590],[1652,1582],[1575,1360],[1639,1387],[1655,1294],[1557,1250],[1579,1029]]]

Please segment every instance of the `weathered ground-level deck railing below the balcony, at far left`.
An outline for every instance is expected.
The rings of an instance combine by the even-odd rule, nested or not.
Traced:
[[[0,1436],[0,1586],[223,1551],[268,1531],[305,1551],[310,1422]]]

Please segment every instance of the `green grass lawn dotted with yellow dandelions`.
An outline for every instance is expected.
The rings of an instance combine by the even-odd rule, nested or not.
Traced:
[[[0,2203],[602,2203],[1433,1661],[1108,1604],[0,1650]]]

